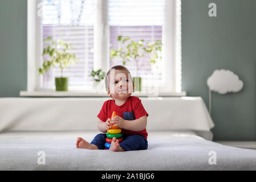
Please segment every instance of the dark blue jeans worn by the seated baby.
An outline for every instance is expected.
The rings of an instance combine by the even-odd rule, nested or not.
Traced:
[[[104,150],[106,138],[107,134],[97,134],[91,141],[91,144],[95,144],[95,146],[97,146],[100,150]],[[125,151],[146,150],[148,148],[148,141],[142,135],[123,134],[122,138],[123,142],[120,143],[120,147],[122,147]]]

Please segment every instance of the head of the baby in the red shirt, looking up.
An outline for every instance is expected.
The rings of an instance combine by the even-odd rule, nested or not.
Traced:
[[[134,92],[131,73],[122,65],[112,67],[105,76],[105,88],[114,100],[128,98]]]

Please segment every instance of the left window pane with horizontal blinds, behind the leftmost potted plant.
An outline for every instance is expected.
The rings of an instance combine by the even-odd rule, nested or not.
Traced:
[[[79,63],[63,69],[63,76],[69,77],[70,89],[82,89],[92,84],[88,77],[94,60],[94,0],[43,0],[42,26],[43,39],[52,36],[62,39],[72,46],[70,52],[79,59]],[[44,42],[46,47],[48,42]],[[46,57],[44,57],[44,61]],[[60,77],[58,66],[43,76],[42,88],[54,89],[54,78]]]

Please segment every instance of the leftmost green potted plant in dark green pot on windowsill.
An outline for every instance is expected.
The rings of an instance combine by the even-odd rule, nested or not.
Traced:
[[[48,37],[44,42],[50,42],[51,37]],[[59,65],[61,71],[61,77],[55,78],[56,91],[68,90],[68,77],[63,77],[63,69],[69,67],[71,64],[75,64],[77,59],[74,53],[68,52],[72,47],[63,42],[63,40],[51,41],[46,48],[43,48],[43,56],[46,56],[48,60],[43,62],[42,67],[38,69],[40,74],[44,74],[55,65]]]

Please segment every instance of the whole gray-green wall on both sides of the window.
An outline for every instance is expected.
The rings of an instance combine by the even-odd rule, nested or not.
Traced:
[[[208,16],[210,2],[217,17]],[[26,90],[26,0],[0,1],[0,97]],[[182,90],[208,105],[207,78],[230,69],[239,93],[213,93],[214,140],[256,140],[256,1],[182,0]]]

